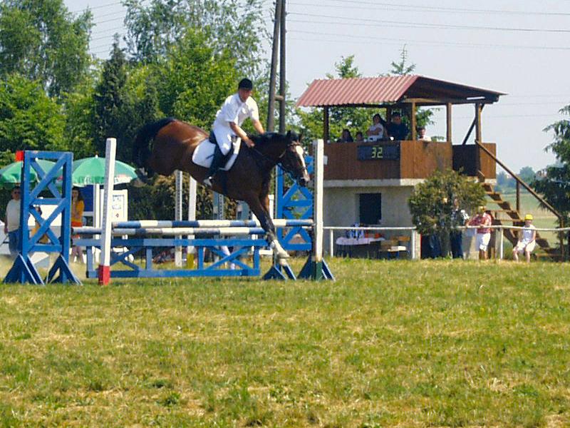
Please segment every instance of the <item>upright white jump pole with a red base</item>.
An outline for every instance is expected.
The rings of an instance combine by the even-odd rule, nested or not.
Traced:
[[[115,153],[117,151],[117,139],[107,138],[105,143],[105,184],[103,195],[103,222],[101,224],[101,262],[99,265],[99,284],[110,283],[110,260],[111,260],[111,207],[113,205],[113,187],[115,178]]]

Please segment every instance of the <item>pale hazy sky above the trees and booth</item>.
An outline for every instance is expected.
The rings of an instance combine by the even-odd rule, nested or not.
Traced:
[[[91,9],[90,50],[107,58],[113,34],[125,34],[120,1],[65,2],[72,12]],[[268,29],[273,7],[264,2]],[[514,172],[554,162],[544,151],[552,133],[543,130],[564,118],[559,109],[570,103],[570,0],[287,0],[287,12],[293,98],[334,73],[342,57],[354,55],[363,76],[378,76],[405,46],[416,74],[507,93],[484,108],[482,137],[497,143],[497,156]],[[473,115],[472,106],[454,106],[454,143],[462,142]],[[433,118],[428,135],[445,136],[445,110]]]

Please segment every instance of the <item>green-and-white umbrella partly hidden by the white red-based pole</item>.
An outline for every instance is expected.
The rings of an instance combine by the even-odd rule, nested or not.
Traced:
[[[115,161],[115,184],[130,183],[137,178],[135,168],[121,161]],[[104,184],[105,183],[105,158],[94,156],[93,158],[73,161],[73,184]]]

